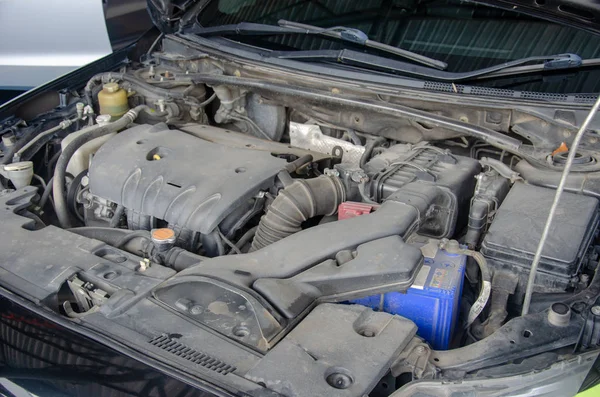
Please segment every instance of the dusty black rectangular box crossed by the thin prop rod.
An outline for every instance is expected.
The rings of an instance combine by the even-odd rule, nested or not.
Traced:
[[[517,300],[523,297],[555,193],[553,189],[516,183],[483,239],[481,252],[491,269],[519,276]],[[534,291],[564,292],[571,285],[597,227],[598,200],[563,192],[542,252]]]

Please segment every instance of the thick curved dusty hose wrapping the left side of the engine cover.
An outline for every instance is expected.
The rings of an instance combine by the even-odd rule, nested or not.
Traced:
[[[73,139],[69,145],[64,148],[58,161],[56,162],[56,168],[54,170],[54,180],[52,181],[53,185],[53,197],[54,197],[54,209],[56,211],[56,216],[58,217],[58,221],[60,226],[64,229],[69,229],[71,227],[71,219],[69,216],[69,210],[67,208],[67,198],[65,194],[65,184],[66,184],[66,174],[67,174],[67,165],[71,160],[71,157],[77,152],[77,150],[88,143],[89,141],[100,138],[102,136],[112,134],[113,132],[117,132],[129,124],[131,124],[138,116],[138,114],[142,111],[148,109],[146,105],[137,106],[127,113],[125,113],[119,120],[106,124],[104,126],[92,126],[89,129],[82,132],[77,138]]]

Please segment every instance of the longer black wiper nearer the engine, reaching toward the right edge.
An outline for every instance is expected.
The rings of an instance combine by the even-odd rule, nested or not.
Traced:
[[[521,58],[483,69],[454,73],[426,68],[407,62],[383,58],[352,50],[273,51],[270,54],[265,54],[265,56],[299,61],[330,61],[366,69],[375,69],[384,72],[399,73],[403,75],[447,82],[474,80],[476,78],[482,78],[488,75],[493,76],[495,74],[499,74],[501,71],[510,71],[511,69],[513,75],[523,74],[523,70],[516,67],[536,61],[541,61],[542,63],[532,65],[535,67],[533,68],[535,71],[574,69],[582,66],[583,64],[581,57],[578,55],[558,54]],[[529,70],[531,69],[532,68],[530,67],[526,73],[530,73]],[[503,75],[509,75],[509,73],[504,73]]]

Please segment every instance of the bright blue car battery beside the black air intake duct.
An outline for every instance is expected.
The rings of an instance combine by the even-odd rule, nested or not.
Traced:
[[[435,258],[425,258],[405,294],[388,292],[350,303],[406,317],[419,327],[417,334],[434,349],[446,350],[456,326],[466,261],[465,255],[439,249]]]

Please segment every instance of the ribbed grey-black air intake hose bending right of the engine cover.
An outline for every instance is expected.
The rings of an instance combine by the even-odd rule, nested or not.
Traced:
[[[250,251],[302,230],[302,222],[319,215],[333,215],[346,200],[346,189],[334,176],[298,179],[277,195],[261,218]]]

